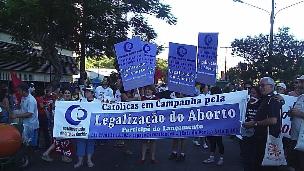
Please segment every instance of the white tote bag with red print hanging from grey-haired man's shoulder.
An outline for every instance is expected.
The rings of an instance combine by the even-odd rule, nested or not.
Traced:
[[[267,126],[267,132],[267,143],[262,166],[287,165],[282,143],[282,134],[279,135],[279,138],[275,138],[274,136],[270,135],[269,126]]]

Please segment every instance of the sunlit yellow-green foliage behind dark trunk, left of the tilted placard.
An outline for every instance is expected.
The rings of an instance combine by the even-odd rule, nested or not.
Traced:
[[[99,68],[115,68],[115,58],[101,56],[99,60],[87,58],[85,61],[85,69],[98,68],[95,65],[99,65]]]

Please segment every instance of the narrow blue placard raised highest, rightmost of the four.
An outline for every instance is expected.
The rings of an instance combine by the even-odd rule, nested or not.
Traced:
[[[219,33],[199,33],[197,82],[215,85],[218,36]]]

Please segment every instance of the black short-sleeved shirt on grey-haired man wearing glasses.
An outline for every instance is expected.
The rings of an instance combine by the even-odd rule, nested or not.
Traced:
[[[269,117],[275,117],[278,122],[275,125],[269,126],[269,134],[278,136],[281,132],[281,103],[275,99],[271,99],[271,96],[275,95],[273,92],[264,96],[261,105],[257,110],[257,114],[254,117],[254,121],[261,121]],[[270,100],[270,101],[269,101]],[[269,102],[269,104],[268,104]],[[267,134],[267,126],[255,127],[255,134],[263,135]]]

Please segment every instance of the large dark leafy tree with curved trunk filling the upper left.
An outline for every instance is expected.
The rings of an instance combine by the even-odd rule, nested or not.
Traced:
[[[129,20],[127,14],[133,14]],[[133,36],[153,42],[157,37],[146,16],[176,24],[169,5],[159,0],[5,0],[0,2],[3,30],[10,30],[16,49],[40,46],[55,69],[51,84],[61,78],[56,44],[98,58],[115,56],[114,44]],[[81,46],[80,46],[81,45]],[[15,53],[18,56],[20,50]],[[18,57],[19,58],[19,57]]]

